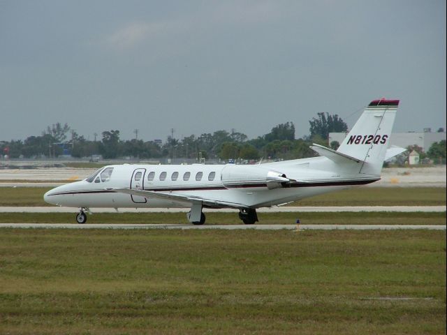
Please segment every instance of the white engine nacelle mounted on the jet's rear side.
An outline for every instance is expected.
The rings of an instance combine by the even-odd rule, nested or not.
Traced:
[[[290,181],[278,171],[259,165],[226,165],[222,170],[222,184],[226,188],[285,187]]]

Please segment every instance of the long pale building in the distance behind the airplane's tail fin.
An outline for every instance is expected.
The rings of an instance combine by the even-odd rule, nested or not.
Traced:
[[[344,137],[348,133],[329,133],[328,144],[337,141],[342,144]],[[446,133],[432,133],[430,128],[425,128],[423,132],[409,132],[409,133],[392,133],[390,145],[406,148],[409,145],[416,144],[421,147],[423,151],[430,149],[434,142],[446,140]]]

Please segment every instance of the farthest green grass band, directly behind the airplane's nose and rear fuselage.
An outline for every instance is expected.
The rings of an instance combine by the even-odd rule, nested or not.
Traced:
[[[0,206],[51,206],[43,201],[43,194],[51,188],[2,187]],[[300,202],[293,206],[429,206],[445,205],[446,188],[352,188],[351,190],[327,193]]]

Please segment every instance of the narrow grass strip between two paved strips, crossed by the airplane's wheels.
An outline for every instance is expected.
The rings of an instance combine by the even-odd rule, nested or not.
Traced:
[[[207,225],[242,224],[234,213],[206,213]],[[338,225],[445,225],[446,212],[307,212],[259,213],[259,224]],[[75,223],[75,214],[67,213],[0,213],[0,223]],[[87,215],[87,223],[185,223],[185,213],[97,213]]]

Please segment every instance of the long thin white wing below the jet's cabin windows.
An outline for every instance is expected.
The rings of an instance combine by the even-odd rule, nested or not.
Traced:
[[[106,188],[107,191],[114,191],[117,193],[126,193],[129,195],[139,195],[145,198],[159,198],[164,200],[184,201],[184,202],[202,202],[204,206],[209,207],[230,207],[240,209],[247,207],[245,204],[237,202],[227,202],[222,200],[207,199],[196,195],[185,195],[173,192],[161,192],[161,191],[145,191],[134,190],[131,188]]]

